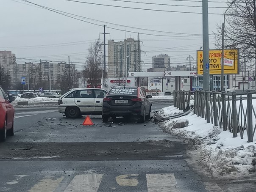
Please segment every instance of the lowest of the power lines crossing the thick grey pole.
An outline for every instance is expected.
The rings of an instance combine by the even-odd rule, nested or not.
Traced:
[[[146,8],[136,8],[136,7],[125,7],[125,6],[117,6],[117,5],[106,5],[106,4],[100,4],[100,3],[89,3],[89,2],[83,2],[83,1],[77,1],[77,0],[65,0],[65,1],[72,1],[72,2],[76,2],[76,3],[86,3],[86,4],[91,4],[91,5],[102,5],[102,6],[108,6],[108,7],[118,7],[118,8],[146,10],[146,11],[161,11],[161,12],[186,13],[186,14],[202,14],[200,12],[168,11],[168,10],[159,10],[159,9],[146,9]],[[223,15],[223,14],[218,14],[218,13],[209,13],[209,14],[211,14],[211,15]]]

